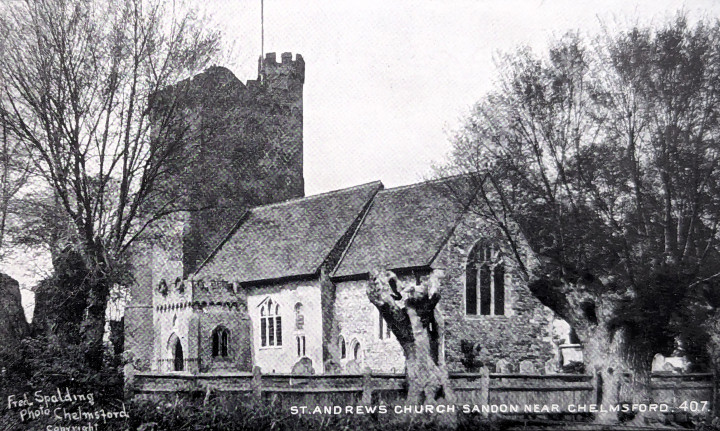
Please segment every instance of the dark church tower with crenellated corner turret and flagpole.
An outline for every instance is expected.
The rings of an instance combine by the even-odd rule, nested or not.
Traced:
[[[188,211],[158,225],[153,239],[139,244],[132,257],[125,350],[144,364],[141,369],[157,369],[153,362],[167,342],[154,336],[167,322],[153,322],[153,289],[192,274],[248,208],[304,196],[304,81],[300,54],[293,59],[283,53],[278,62],[268,53],[259,60],[258,78],[247,84],[213,66],[158,95],[156,106],[182,113],[160,133],[183,136],[182,151],[158,189],[163,199]],[[178,342],[188,340],[180,335]]]

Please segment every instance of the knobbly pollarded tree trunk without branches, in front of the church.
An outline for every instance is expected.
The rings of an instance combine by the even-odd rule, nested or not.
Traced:
[[[440,300],[437,275],[424,284],[402,285],[390,271],[373,271],[368,284],[368,298],[402,346],[407,402],[414,405],[454,401],[442,353],[444,322],[436,309]]]

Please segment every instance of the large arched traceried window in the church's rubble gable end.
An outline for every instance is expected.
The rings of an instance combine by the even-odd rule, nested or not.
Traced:
[[[465,313],[505,314],[505,264],[494,244],[477,242],[465,269]]]

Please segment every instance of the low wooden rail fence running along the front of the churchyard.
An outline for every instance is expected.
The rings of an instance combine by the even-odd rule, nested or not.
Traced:
[[[579,406],[598,404],[602,396],[596,379],[589,374],[450,373],[450,382],[456,405],[478,406],[492,413],[527,413],[525,406],[535,405],[539,408],[555,405],[560,412],[577,413]],[[709,412],[713,408],[715,382],[712,374],[654,373],[650,383],[654,403],[679,407],[686,402],[688,411],[695,413]],[[261,374],[257,368],[253,373],[136,374],[134,388],[140,397],[235,393],[272,400],[283,407],[302,405],[311,409],[315,406],[402,404],[407,394],[404,374],[368,372],[300,376]],[[620,393],[622,398],[623,391]],[[511,406],[519,406],[519,411],[508,411]]]

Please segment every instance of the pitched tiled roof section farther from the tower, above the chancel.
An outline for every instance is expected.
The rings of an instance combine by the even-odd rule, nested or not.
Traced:
[[[465,211],[469,186],[451,177],[378,192],[333,276],[429,266]]]

